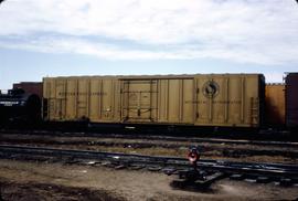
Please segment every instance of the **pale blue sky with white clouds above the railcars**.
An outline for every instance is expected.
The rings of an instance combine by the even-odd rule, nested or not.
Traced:
[[[298,71],[295,0],[7,0],[0,88],[60,75]]]

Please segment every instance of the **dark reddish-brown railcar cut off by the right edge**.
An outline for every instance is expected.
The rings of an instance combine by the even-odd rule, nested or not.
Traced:
[[[298,128],[298,73],[286,76],[286,120],[288,128]]]

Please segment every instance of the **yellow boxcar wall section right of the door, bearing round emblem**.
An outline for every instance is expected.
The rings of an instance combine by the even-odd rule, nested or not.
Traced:
[[[258,127],[258,75],[196,76],[196,120],[200,126]]]

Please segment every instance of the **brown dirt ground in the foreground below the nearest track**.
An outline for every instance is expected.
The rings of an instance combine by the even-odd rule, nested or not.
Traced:
[[[209,191],[172,188],[174,177],[104,167],[0,160],[0,200],[295,200],[298,187],[228,179]]]

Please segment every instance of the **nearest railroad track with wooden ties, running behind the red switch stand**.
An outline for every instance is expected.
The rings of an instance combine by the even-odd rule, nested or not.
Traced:
[[[152,157],[143,155],[127,155],[117,152],[53,149],[23,146],[0,146],[0,157],[3,159],[58,161],[88,166],[108,166],[116,169],[147,169],[175,174],[189,170],[191,166],[184,158]],[[234,162],[226,160],[200,160],[201,170],[216,171],[232,178],[267,178],[280,183],[298,183],[298,166],[281,163]]]

